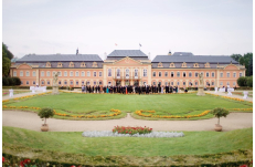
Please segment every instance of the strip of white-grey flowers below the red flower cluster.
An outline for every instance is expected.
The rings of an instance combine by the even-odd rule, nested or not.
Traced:
[[[82,134],[84,137],[183,137],[184,134],[177,132],[151,132],[149,134],[119,134],[118,132],[113,133],[110,131],[102,131],[102,132],[84,132]]]

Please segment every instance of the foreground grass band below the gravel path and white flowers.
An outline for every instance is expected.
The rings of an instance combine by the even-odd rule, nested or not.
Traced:
[[[3,144],[86,156],[174,156],[219,154],[253,148],[253,128],[232,132],[183,132],[178,138],[82,137],[81,132],[40,133],[2,127]],[[4,152],[4,149],[3,149]],[[25,153],[24,153],[25,154]]]

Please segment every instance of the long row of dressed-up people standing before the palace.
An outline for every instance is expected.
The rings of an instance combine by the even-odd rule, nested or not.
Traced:
[[[144,86],[91,86],[82,85],[83,93],[120,93],[120,94],[153,94],[153,93],[178,93],[178,86],[144,85]]]

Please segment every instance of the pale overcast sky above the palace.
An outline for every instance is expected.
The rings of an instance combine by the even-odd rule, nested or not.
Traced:
[[[140,50],[253,52],[252,0],[3,0],[2,41],[22,58]],[[117,46],[115,45],[117,44]]]

